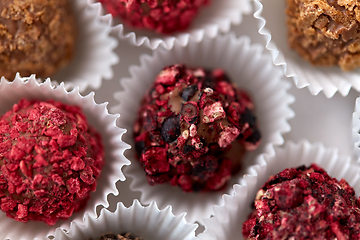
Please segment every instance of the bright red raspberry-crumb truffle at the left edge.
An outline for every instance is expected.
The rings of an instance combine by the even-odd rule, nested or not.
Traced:
[[[104,150],[79,107],[23,99],[0,119],[0,165],[1,210],[53,225],[85,206]]]

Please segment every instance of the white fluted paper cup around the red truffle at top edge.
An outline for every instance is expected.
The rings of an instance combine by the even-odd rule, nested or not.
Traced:
[[[186,46],[190,40],[200,42],[204,37],[227,33],[232,24],[239,25],[242,22],[243,14],[250,14],[252,11],[250,0],[211,0],[210,4],[200,9],[187,30],[164,35],[132,28],[119,17],[113,18],[97,0],[88,1],[98,7],[100,16],[113,26],[120,39],[127,39],[135,46],[144,45],[152,50],[159,46],[171,49],[175,43]]]

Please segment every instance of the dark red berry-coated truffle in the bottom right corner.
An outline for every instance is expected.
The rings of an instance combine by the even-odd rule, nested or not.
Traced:
[[[360,239],[360,200],[323,169],[285,169],[258,191],[245,239]]]

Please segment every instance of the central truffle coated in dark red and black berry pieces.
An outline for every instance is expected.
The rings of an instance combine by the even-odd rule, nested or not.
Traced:
[[[223,188],[245,151],[260,142],[253,108],[221,69],[164,68],[134,124],[150,185],[170,182],[186,192]]]

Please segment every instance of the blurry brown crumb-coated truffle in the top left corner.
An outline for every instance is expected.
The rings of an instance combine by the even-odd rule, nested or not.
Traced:
[[[0,76],[49,77],[68,64],[76,29],[67,0],[0,1]]]

